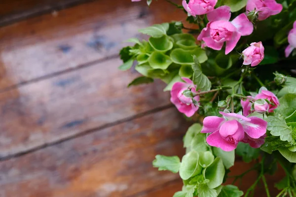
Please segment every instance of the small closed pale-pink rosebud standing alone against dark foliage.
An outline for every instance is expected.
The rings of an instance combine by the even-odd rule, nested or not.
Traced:
[[[253,42],[243,52],[243,65],[257,66],[264,58],[264,47],[262,42]]]

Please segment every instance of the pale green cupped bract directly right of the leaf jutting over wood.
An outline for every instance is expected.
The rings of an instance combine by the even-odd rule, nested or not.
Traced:
[[[180,177],[187,180],[190,177],[201,173],[201,166],[198,164],[199,154],[195,151],[190,151],[183,156],[180,165]]]

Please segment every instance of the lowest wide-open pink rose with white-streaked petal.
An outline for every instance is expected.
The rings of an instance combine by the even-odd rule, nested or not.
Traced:
[[[267,122],[258,117],[223,113],[223,118],[208,116],[203,121],[202,133],[210,133],[207,143],[224,151],[232,151],[247,137],[258,139],[266,133]],[[246,142],[245,142],[246,143]]]

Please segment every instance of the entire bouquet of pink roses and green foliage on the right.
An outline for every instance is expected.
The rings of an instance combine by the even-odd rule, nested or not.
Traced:
[[[271,197],[265,175],[280,165],[276,195],[296,197],[296,0],[166,1],[196,28],[174,21],[139,30],[148,40],[127,40],[119,69],[135,62],[143,76],[128,86],[160,79],[186,118],[204,119],[186,132],[182,160],[157,155],[153,166],[180,174],[174,197],[250,197],[259,182]],[[222,185],[235,156],[254,161],[235,180],[258,171],[245,194]]]

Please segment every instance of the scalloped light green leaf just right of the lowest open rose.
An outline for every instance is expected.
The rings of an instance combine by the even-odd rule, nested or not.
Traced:
[[[267,130],[270,131],[270,134],[273,136],[280,136],[282,141],[291,142],[292,137],[292,128],[288,127],[286,121],[283,118],[268,116],[267,121]]]

